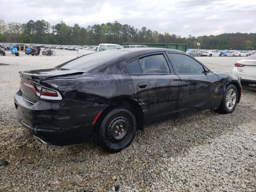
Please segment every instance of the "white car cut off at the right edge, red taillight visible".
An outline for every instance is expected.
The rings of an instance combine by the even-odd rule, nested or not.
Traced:
[[[256,54],[236,62],[232,73],[241,78],[241,83],[256,84]]]

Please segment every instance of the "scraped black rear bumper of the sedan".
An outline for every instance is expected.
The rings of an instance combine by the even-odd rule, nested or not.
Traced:
[[[52,145],[88,142],[93,121],[108,106],[76,100],[38,100],[35,104],[14,96],[18,121],[34,136]]]

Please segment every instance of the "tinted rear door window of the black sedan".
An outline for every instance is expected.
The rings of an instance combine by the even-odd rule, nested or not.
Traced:
[[[139,63],[143,73],[170,73],[168,64],[162,54],[140,58]]]

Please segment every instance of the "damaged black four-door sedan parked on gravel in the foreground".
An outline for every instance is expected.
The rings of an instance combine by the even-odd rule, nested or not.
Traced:
[[[161,48],[96,52],[19,74],[17,118],[38,140],[77,144],[94,134],[110,152],[154,124],[204,110],[232,113],[242,94],[236,74]]]

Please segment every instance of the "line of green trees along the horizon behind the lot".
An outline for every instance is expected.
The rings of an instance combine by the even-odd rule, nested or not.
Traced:
[[[51,25],[45,20],[29,20],[23,24],[15,22],[6,24],[4,20],[0,20],[0,42],[30,43],[30,38],[35,44],[180,43],[187,44],[188,48],[197,48],[196,44],[199,42],[202,49],[256,50],[256,33],[237,32],[198,37],[189,35],[182,38],[180,35],[168,32],[161,34],[146,27],[134,28],[117,21],[84,28],[79,24],[68,26],[63,21]]]

